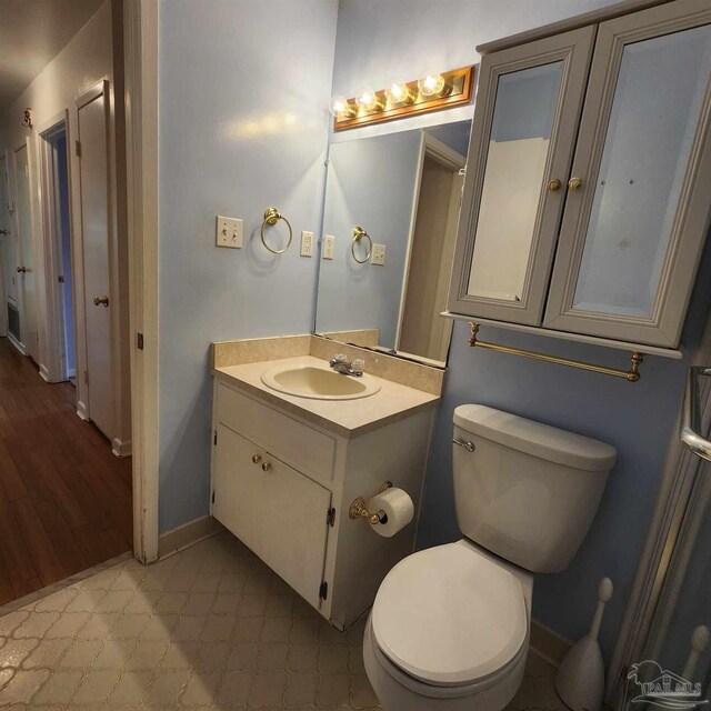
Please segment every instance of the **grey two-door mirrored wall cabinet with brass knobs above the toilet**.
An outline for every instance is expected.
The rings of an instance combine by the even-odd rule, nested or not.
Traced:
[[[708,0],[494,47],[479,76],[449,311],[675,348],[709,228]]]

